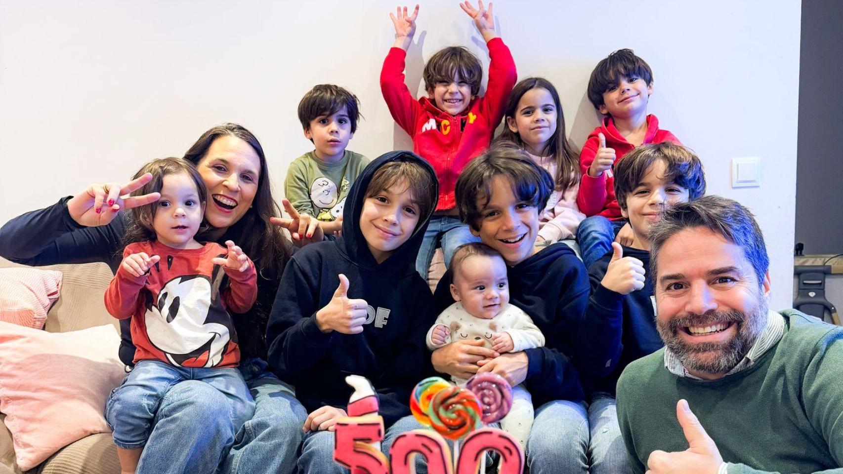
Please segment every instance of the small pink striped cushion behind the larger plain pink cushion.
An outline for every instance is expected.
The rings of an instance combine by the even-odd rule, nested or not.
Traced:
[[[61,288],[62,272],[56,270],[0,269],[0,321],[44,328]]]

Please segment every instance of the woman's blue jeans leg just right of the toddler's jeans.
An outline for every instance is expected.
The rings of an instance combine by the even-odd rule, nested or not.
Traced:
[[[237,432],[222,471],[290,474],[296,467],[308,412],[293,388],[278,380],[264,360],[245,359],[239,369],[255,398],[255,416]]]

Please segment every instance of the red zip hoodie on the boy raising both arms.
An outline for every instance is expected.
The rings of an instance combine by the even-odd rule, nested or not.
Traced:
[[[380,89],[395,122],[413,140],[413,152],[429,162],[439,180],[436,210],[456,206],[454,185],[471,158],[486,151],[503,118],[509,93],[518,78],[515,61],[500,38],[486,43],[489,48],[489,83],[486,95],[475,99],[460,115],[437,108],[427,97],[413,99],[404,83],[407,52],[392,48],[380,72]]]

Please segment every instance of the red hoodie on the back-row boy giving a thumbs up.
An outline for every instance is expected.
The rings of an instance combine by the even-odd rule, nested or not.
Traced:
[[[611,117],[604,117],[603,124],[595,128],[583,145],[583,152],[580,153],[580,171],[583,178],[580,180],[580,189],[577,194],[577,206],[580,212],[586,216],[604,216],[609,219],[620,219],[620,205],[615,198],[615,176],[612,170],[604,171],[597,178],[588,176],[588,168],[597,156],[597,149],[600,144],[602,133],[606,137],[606,147],[615,149],[615,162],[631,152],[634,145],[626,141],[620,131],[615,128],[615,122]],[[679,139],[668,130],[658,128],[658,119],[655,115],[647,115],[647,134],[644,136],[644,143],[661,143],[670,141],[681,145]],[[613,165],[614,169],[614,165]]]

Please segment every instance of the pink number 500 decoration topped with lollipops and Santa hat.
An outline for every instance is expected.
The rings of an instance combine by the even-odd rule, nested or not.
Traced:
[[[414,429],[400,434],[389,449],[391,465],[380,450],[384,418],[378,414],[372,385],[359,375],[350,375],[346,381],[355,391],[347,407],[349,416],[336,423],[334,460],[352,474],[411,474],[416,455],[427,459],[430,474],[475,474],[487,450],[500,455],[500,474],[524,471],[524,452],[518,441],[501,429],[481,428],[482,423],[503,418],[512,405],[512,388],[501,376],[475,375],[466,384],[472,390],[440,377],[419,382],[411,396],[411,411],[435,431]],[[454,458],[443,436],[454,440]],[[459,439],[463,439],[461,444]]]

